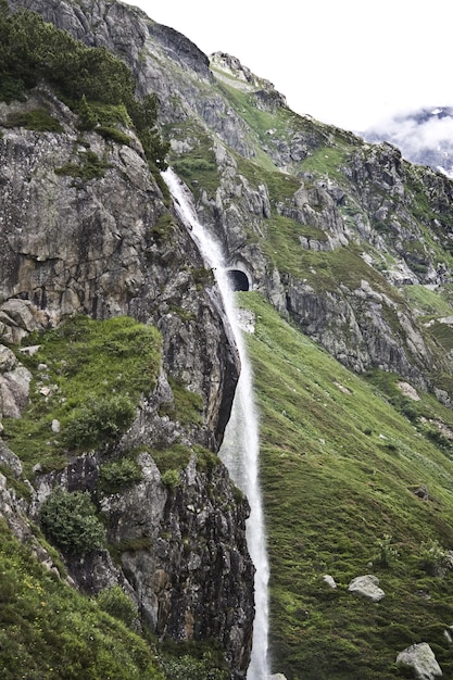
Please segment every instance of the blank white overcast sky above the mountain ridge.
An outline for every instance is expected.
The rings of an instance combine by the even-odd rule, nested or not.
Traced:
[[[127,0],[203,52],[237,56],[293,111],[363,130],[453,105],[453,0]]]

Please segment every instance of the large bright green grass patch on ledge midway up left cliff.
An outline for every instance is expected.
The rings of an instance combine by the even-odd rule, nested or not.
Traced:
[[[77,316],[28,342],[40,344],[28,358],[20,354],[34,376],[29,404],[22,418],[3,421],[25,476],[37,463],[42,469],[61,468],[68,453],[117,437],[140,395],[155,387],[160,333],[129,317],[96,322]],[[52,431],[54,419],[60,432]]]

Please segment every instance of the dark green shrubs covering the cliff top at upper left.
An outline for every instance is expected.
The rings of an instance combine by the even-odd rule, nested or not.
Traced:
[[[0,98],[7,102],[25,99],[26,91],[41,80],[78,114],[81,129],[96,129],[112,141],[129,143],[121,126],[134,125],[150,169],[158,175],[158,168],[165,169],[169,146],[156,129],[156,97],[136,99],[135,79],[126,64],[103,46],[90,48],[75,40],[36,12],[10,12],[8,2],[1,0]],[[51,123],[58,127],[43,113],[27,115],[32,129],[41,129],[38,125],[48,129]]]

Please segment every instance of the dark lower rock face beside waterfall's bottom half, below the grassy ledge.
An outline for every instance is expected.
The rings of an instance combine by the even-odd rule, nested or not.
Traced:
[[[106,551],[70,555],[74,581],[87,593],[121,584],[160,640],[217,640],[231,678],[244,678],[254,613],[248,502],[219,462],[205,467],[193,456],[168,486],[149,453],[136,459],[141,480],[116,493],[99,488],[99,455],[74,458],[63,473],[39,475],[34,514],[55,486],[96,493],[117,566]]]

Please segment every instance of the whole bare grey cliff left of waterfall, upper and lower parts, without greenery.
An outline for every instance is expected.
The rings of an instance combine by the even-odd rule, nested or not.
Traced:
[[[121,5],[112,8],[129,16]],[[86,30],[88,17],[76,4],[55,3],[54,10],[48,18],[63,20],[76,36]],[[112,25],[119,18],[115,14]],[[142,26],[130,26],[139,50]],[[59,131],[13,122],[42,110]],[[2,515],[27,509],[39,520],[52,489],[88,491],[119,561],[115,566],[105,550],[66,555],[75,582],[89,593],[119,583],[162,640],[217,642],[231,677],[243,677],[253,624],[249,506],[221,462],[214,456],[203,463],[197,453],[200,445],[217,452],[239,374],[213,277],[131,129],[123,128],[127,144],[80,133],[77,116],[45,84],[23,102],[2,102],[0,125],[1,341],[27,345],[32,331],[46,333],[77,314],[97,320],[127,315],[156,327],[162,338],[158,386],[142,395],[121,441],[73,454],[60,473],[38,466],[28,508],[11,504]],[[17,418],[35,398],[36,375],[3,345],[1,356],[2,416]],[[185,417],[178,399],[192,400],[196,415]],[[168,486],[147,452],[175,446],[184,446],[190,461]],[[4,451],[2,465],[21,477],[18,459]],[[101,493],[101,465],[126,454],[137,461],[141,480],[128,492]],[[21,522],[25,518],[10,522],[17,534]]]

